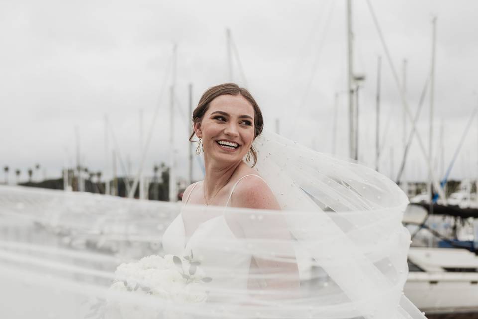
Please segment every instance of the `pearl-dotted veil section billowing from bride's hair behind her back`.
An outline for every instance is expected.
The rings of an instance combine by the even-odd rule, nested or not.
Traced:
[[[425,318],[402,293],[410,244],[402,190],[370,168],[271,132],[255,146],[258,173],[281,209],[295,212],[286,214],[290,232],[349,300],[339,313]]]

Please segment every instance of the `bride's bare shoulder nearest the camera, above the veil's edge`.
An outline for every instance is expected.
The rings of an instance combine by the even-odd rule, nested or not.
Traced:
[[[280,209],[269,185],[256,173],[245,175],[233,191],[231,206],[255,209]]]

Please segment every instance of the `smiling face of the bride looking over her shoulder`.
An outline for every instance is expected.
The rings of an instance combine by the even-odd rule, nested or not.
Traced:
[[[238,162],[254,141],[254,108],[242,95],[220,95],[194,131],[202,138],[205,156],[224,162]]]

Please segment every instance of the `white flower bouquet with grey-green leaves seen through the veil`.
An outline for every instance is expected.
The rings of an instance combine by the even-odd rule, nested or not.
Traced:
[[[165,310],[138,307],[122,300],[133,294],[129,300],[140,295],[150,295],[167,303],[203,303],[208,298],[205,283],[211,282],[200,267],[200,262],[189,256],[151,255],[137,262],[124,263],[117,267],[115,279],[109,288],[104,316],[100,318],[158,318],[158,312]],[[176,317],[174,310],[167,310],[163,316]]]

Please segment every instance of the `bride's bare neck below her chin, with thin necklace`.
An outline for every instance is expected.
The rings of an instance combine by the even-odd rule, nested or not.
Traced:
[[[205,158],[204,166],[206,176],[204,177],[204,195],[208,198],[214,196],[214,194],[229,182],[241,163],[242,160],[229,165],[218,165],[214,160]]]

